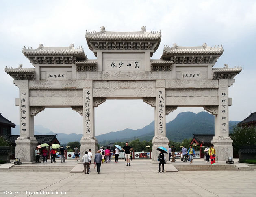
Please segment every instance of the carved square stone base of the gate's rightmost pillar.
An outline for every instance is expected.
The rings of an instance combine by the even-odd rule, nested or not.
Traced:
[[[228,157],[233,157],[233,140],[231,138],[228,138],[227,140],[222,139],[214,139],[211,141],[211,143],[214,145],[214,148],[216,150],[216,163],[226,163],[228,161]]]

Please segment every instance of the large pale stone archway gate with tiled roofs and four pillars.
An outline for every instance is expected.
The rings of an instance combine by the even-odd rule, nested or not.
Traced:
[[[81,153],[97,151],[94,108],[106,99],[143,99],[155,108],[152,161],[158,146],[168,148],[165,116],[177,107],[204,107],[215,116],[217,161],[233,155],[228,135],[228,87],[241,68],[212,68],[223,47],[165,46],[160,59],[150,59],[158,49],[161,32],[100,32],[85,34],[97,57],[89,60],[82,47],[24,47],[22,53],[35,68],[5,68],[19,87],[20,137],[16,157],[35,161],[34,116],[45,107],[71,107],[83,116]],[[168,150],[168,149],[167,149]]]

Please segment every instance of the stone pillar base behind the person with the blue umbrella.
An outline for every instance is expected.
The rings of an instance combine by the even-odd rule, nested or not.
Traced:
[[[158,155],[160,153],[158,150],[156,150],[156,148],[163,146],[164,148],[166,148],[167,152],[169,152],[168,144],[169,144],[169,140],[167,137],[165,137],[165,140],[152,140],[152,161],[153,162],[157,161]],[[165,161],[169,161],[169,153],[165,154]]]

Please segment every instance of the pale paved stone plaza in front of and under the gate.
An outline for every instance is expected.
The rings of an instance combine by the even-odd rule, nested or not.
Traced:
[[[252,197],[256,193],[255,170],[158,173],[158,164],[150,161],[132,160],[130,167],[123,159],[119,163],[111,161],[102,164],[100,175],[93,167],[87,175],[70,172],[0,172],[0,197]],[[204,163],[202,159],[193,161],[191,166]],[[76,162],[57,161],[54,165],[76,165]],[[18,191],[20,194],[17,194]],[[36,194],[37,191],[41,194]],[[51,194],[51,191],[63,194]]]

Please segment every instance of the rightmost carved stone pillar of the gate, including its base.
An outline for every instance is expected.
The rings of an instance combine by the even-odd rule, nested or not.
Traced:
[[[211,141],[216,150],[216,161],[225,163],[228,157],[233,157],[233,146],[228,131],[228,80],[219,79],[219,106],[215,114],[215,131]]]

